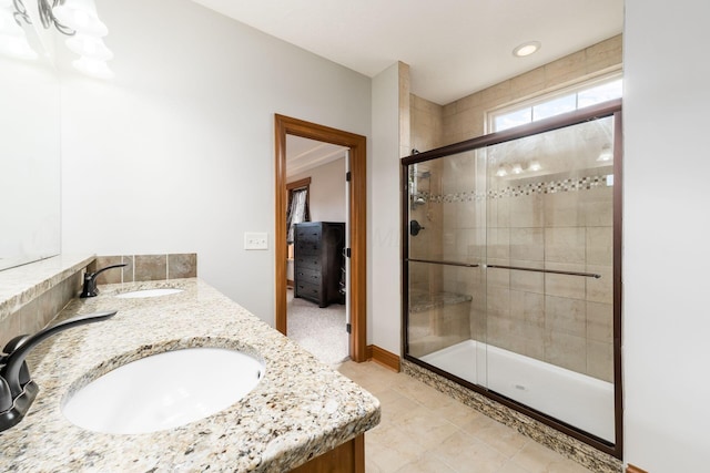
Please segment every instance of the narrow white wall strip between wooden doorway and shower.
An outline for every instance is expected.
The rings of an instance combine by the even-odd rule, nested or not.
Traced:
[[[399,354],[402,256],[399,237],[399,64],[373,79],[373,153],[367,162],[369,259],[367,339]]]

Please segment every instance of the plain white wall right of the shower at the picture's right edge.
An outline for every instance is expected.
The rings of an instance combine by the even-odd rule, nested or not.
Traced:
[[[625,460],[710,467],[708,3],[626,0]]]

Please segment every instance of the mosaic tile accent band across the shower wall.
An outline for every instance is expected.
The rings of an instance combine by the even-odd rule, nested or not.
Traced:
[[[567,178],[548,181],[541,183],[529,183],[518,186],[508,186],[499,189],[489,189],[487,193],[476,191],[464,191],[454,194],[429,194],[419,192],[416,197],[424,198],[433,204],[455,204],[460,202],[481,202],[484,199],[495,199],[505,197],[520,197],[532,194],[557,194],[561,192],[588,191],[597,187],[610,187],[607,174],[598,176],[587,176],[580,178]]]

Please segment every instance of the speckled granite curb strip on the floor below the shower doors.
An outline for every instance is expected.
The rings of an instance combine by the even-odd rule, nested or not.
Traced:
[[[400,361],[402,371],[432,388],[448,394],[464,404],[476,409],[483,414],[515,429],[523,435],[532,439],[557,453],[599,473],[622,473],[623,464],[620,460],[608,455],[566,435],[549,425],[536,421],[514,409],[505,407],[493,399],[440,377],[418,364],[407,360]]]

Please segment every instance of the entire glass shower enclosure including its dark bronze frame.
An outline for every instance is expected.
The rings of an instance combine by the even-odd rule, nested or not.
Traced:
[[[619,127],[613,102],[403,160],[405,359],[617,456]]]

